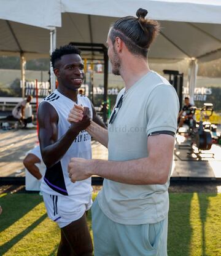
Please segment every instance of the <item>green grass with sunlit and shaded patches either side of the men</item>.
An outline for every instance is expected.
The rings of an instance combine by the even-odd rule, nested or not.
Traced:
[[[56,255],[60,231],[41,196],[2,194],[0,205],[0,255]],[[91,230],[90,214],[88,225]],[[168,256],[221,255],[220,230],[221,194],[170,194]]]

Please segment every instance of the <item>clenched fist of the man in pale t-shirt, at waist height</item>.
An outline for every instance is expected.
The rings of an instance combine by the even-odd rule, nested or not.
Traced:
[[[68,164],[69,178],[71,182],[78,180],[85,180],[91,177],[90,170],[92,169],[92,160],[83,158],[71,158],[71,162]]]

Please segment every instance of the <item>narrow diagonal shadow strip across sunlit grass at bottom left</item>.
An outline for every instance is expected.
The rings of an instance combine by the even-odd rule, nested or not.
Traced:
[[[0,254],[4,255],[11,247],[13,247],[17,242],[19,242],[22,238],[24,238],[29,232],[34,230],[37,225],[39,225],[43,220],[47,217],[47,214],[42,215],[36,222],[32,223],[28,228],[23,230],[21,233],[17,234],[14,238],[12,238],[10,241],[6,242],[1,246]]]

